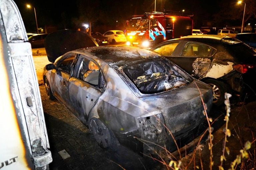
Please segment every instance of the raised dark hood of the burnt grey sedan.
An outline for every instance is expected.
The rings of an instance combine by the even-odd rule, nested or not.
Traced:
[[[99,46],[88,34],[77,30],[60,30],[49,34],[44,41],[45,51],[50,62],[78,48]]]

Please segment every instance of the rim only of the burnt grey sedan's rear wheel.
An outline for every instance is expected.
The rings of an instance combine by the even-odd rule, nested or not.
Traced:
[[[91,130],[94,134],[94,137],[96,141],[103,147],[108,147],[109,139],[110,139],[110,133],[108,129],[105,127],[105,125],[95,119],[91,123]]]

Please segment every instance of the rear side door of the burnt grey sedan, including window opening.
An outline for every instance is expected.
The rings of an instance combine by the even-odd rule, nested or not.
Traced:
[[[80,55],[68,88],[71,111],[80,121],[87,122],[91,109],[103,93],[103,86],[104,79],[98,64]]]

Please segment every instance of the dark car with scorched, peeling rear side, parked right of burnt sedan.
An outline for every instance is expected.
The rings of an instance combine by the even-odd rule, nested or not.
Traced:
[[[227,36],[186,36],[162,42],[149,50],[212,86],[213,103],[217,106],[223,104],[225,92],[239,96],[243,94],[244,83],[255,79],[256,53],[243,42]]]

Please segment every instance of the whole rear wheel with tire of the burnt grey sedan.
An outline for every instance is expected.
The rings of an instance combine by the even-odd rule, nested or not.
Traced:
[[[114,136],[113,132],[107,128],[99,119],[91,119],[90,129],[101,148],[111,149],[113,151],[117,150],[119,145],[118,140]]]

